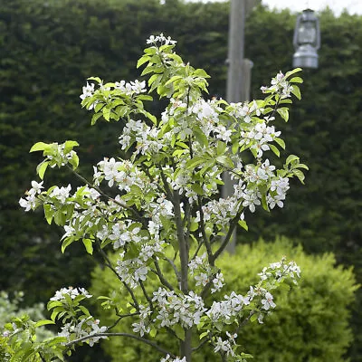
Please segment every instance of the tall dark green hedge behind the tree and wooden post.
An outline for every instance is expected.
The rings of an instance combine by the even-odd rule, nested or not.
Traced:
[[[82,165],[91,165],[117,142],[118,124],[88,127],[78,100],[91,75],[129,81],[150,33],[165,32],[195,67],[212,75],[211,95],[224,97],[228,4],[167,0],[0,0],[0,285],[25,291],[26,301],[47,300],[62,285],[89,285],[94,266],[82,248],[59,251],[59,230],[41,214],[24,214],[17,201],[29,186],[38,159],[26,156],[36,141],[80,141]],[[252,98],[276,71],[291,69],[295,15],[261,6],[246,24],[245,53],[252,59]],[[319,69],[304,71],[303,100],[280,125],[288,148],[309,165],[307,186],[291,188],[286,207],[261,212],[241,241],[284,234],[307,252],[333,251],[354,264],[362,281],[360,210],[362,17],[320,14]],[[84,169],[87,174],[90,169]],[[67,176],[63,182],[67,185]],[[81,245],[80,245],[81,246]],[[29,292],[28,292],[29,291]],[[361,293],[358,294],[361,305]],[[357,305],[357,306],[358,306]],[[350,351],[362,361],[362,316],[353,319]],[[359,347],[358,347],[359,346]],[[359,348],[359,349],[358,349]]]

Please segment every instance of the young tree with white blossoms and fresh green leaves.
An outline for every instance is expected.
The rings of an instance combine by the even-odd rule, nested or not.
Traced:
[[[299,267],[282,259],[266,266],[249,291],[215,297],[224,286],[217,258],[238,224],[247,229],[244,214],[258,206],[282,207],[289,179],[303,182],[301,169],[307,167],[299,157],[287,157],[281,169],[269,159],[285,148],[273,123],[276,116],[288,120],[292,95],[300,99],[301,79],[294,76],[300,70],[277,74],[271,86],[262,87],[264,100],[205,100],[208,75],[182,61],[175,41],[160,34],[147,43],[138,67],[148,81],[90,78],[81,95],[91,124],[100,118],[124,123],[119,145],[126,156],[102,159],[87,180],[77,171],[77,142],[39,142],[31,149],[43,151],[38,176],[43,180],[47,167],[65,167],[83,186],[46,189],[43,181],[33,181],[20,199],[25,211],[43,207],[47,222],[64,228],[62,251],[81,242],[86,252],[100,252],[128,299],[99,297],[115,310],[114,323],[102,326],[86,308],[88,291],[57,291],[48,303],[50,320],[16,319],[7,326],[9,343],[23,360],[64,360],[77,345],[118,336],[157,348],[161,361],[190,362],[205,344],[222,361],[243,361],[251,356],[237,345],[238,331],[248,321],[262,323],[276,308],[272,291],[300,277]],[[160,117],[144,107],[151,93],[168,100]],[[220,196],[223,173],[234,179],[227,198]],[[110,250],[119,254],[117,264],[110,262]],[[123,319],[133,319],[133,333],[112,331]],[[56,338],[33,339],[33,329],[54,322],[61,324]],[[157,344],[157,333],[176,338],[179,349]]]

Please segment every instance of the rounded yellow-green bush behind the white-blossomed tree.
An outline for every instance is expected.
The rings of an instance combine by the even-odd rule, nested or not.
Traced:
[[[292,246],[285,238],[277,239],[275,243],[260,241],[252,245],[239,245],[235,254],[225,253],[218,262],[226,281],[226,287],[219,297],[230,291],[245,293],[249,285],[258,281],[257,273],[262,271],[263,266],[280,260],[284,254],[300,265],[300,284],[291,292],[276,292],[276,310],[264,325],[245,325],[240,330],[239,343],[252,353],[256,362],[344,361],[343,355],[352,342],[348,307],[354,300],[357,285],[351,269],[335,266],[333,254],[307,255],[300,246]],[[111,258],[115,261],[117,255]],[[92,290],[97,294],[109,295],[112,291],[119,291],[119,281],[111,271],[98,268],[93,272]],[[121,293],[119,291],[120,304]],[[100,315],[104,321],[112,324],[110,310],[101,310]],[[131,332],[130,325],[131,320],[124,319],[115,329]],[[174,339],[164,337],[158,342],[175,350]],[[194,346],[197,343],[195,340]],[[148,360],[151,361],[158,358],[152,348],[126,338],[105,341],[103,348],[113,362],[137,362],[141,356],[149,356]],[[213,348],[207,345],[200,348],[195,356],[199,362],[216,361],[217,358]]]

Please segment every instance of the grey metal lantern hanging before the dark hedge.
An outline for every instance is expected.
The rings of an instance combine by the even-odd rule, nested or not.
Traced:
[[[318,68],[320,46],[319,19],[313,10],[306,9],[298,16],[294,30],[294,68]]]

